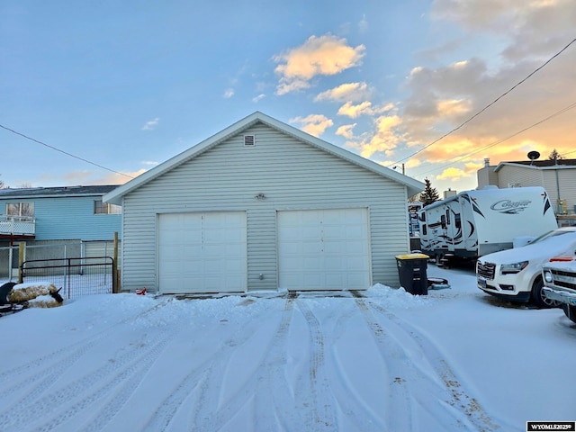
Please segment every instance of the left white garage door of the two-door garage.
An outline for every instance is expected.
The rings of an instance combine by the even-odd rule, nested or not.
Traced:
[[[160,293],[244,293],[247,290],[246,212],[161,214]]]

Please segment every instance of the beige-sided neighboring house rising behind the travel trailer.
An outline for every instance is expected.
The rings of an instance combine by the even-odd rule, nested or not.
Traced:
[[[500,162],[498,166],[484,159],[484,167],[478,170],[478,187],[488,184],[500,188],[542,186],[559,221],[562,215],[576,212],[576,159]]]

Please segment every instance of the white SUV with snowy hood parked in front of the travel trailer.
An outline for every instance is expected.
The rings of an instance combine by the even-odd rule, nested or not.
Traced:
[[[576,227],[553,229],[523,247],[501,250],[476,262],[478,287],[512,302],[554,306],[543,293],[542,267],[552,257],[576,255]]]

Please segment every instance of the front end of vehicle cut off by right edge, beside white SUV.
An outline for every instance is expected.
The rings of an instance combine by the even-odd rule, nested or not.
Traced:
[[[557,257],[542,268],[547,299],[558,302],[566,316],[576,322],[576,256]]]

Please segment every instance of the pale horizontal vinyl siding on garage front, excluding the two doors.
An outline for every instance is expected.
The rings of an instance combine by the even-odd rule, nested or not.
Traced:
[[[277,287],[275,211],[347,207],[369,209],[373,282],[398,286],[407,198],[403,184],[258,123],[124,197],[122,287],[157,288],[157,213],[247,211],[250,291]]]

